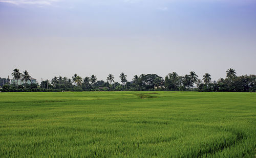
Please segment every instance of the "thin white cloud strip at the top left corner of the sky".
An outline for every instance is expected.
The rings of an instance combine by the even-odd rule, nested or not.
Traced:
[[[0,2],[13,5],[52,5],[58,0],[0,0]]]

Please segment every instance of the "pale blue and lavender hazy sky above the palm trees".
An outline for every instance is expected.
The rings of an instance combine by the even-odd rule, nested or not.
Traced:
[[[256,74],[256,0],[0,0],[0,77]]]

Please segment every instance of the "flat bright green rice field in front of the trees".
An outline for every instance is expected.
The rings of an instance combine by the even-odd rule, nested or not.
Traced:
[[[256,93],[0,93],[0,157],[254,157]]]

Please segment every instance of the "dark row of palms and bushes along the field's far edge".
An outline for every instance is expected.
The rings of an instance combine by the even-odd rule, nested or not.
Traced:
[[[209,73],[205,73],[200,79],[194,71],[184,76],[172,72],[164,78],[157,74],[134,75],[131,82],[127,81],[127,75],[122,72],[118,78],[121,84],[116,82],[113,74],[106,76],[106,82],[97,80],[97,76],[94,74],[84,78],[74,74],[71,78],[54,76],[51,81],[42,81],[40,85],[27,84],[31,78],[27,70],[20,73],[18,69],[14,69],[12,76],[16,81],[25,81],[25,84],[11,85],[9,81],[5,80],[7,82],[4,82],[2,91],[256,91],[256,75],[237,76],[236,70],[232,68],[226,71],[226,78],[220,78],[218,81],[212,81]]]

